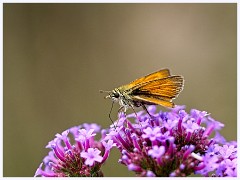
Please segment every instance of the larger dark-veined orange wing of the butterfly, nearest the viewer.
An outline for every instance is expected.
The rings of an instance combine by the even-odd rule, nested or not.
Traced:
[[[178,96],[183,89],[183,77],[169,76],[162,79],[149,81],[131,92],[135,102],[144,104],[159,104],[173,107],[172,100]]]

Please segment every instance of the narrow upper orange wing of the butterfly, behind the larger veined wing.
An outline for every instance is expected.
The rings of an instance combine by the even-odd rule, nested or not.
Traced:
[[[166,78],[168,76],[170,76],[169,69],[161,69],[157,72],[154,72],[154,73],[151,73],[151,74],[146,75],[144,77],[141,77],[139,79],[136,79],[136,80],[132,81],[131,83],[122,86],[121,88],[124,89],[124,90],[136,89],[140,85],[145,84],[149,81],[153,81],[155,79]]]

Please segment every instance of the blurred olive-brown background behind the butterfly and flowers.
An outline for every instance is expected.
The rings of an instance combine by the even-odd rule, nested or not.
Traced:
[[[237,4],[4,4],[3,13],[4,176],[33,176],[56,133],[107,128],[111,102],[99,90],[162,68],[185,78],[176,104],[211,113],[236,140]],[[118,159],[113,151],[105,176],[134,176]]]

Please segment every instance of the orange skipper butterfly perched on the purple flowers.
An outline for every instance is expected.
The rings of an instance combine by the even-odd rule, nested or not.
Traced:
[[[127,109],[134,110],[134,107],[140,106],[147,111],[145,105],[173,108],[172,100],[179,95],[183,87],[184,78],[182,76],[170,75],[169,69],[161,69],[112,91],[101,90],[100,92],[107,92],[108,95],[105,98],[118,102],[120,105],[118,112],[126,113]]]

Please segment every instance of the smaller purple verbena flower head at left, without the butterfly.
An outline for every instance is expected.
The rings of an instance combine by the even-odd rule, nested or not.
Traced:
[[[115,144],[112,140],[103,140],[106,130],[101,131],[99,141],[94,139],[96,133],[100,132],[97,124],[84,123],[83,127],[72,127],[62,134],[56,134],[56,138],[46,146],[51,151],[40,164],[35,176],[103,176],[101,165],[107,160],[110,149]]]

